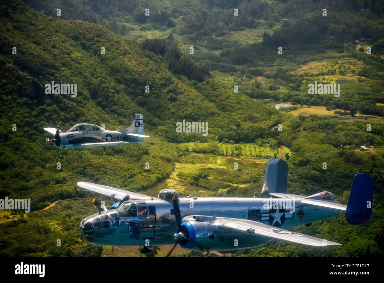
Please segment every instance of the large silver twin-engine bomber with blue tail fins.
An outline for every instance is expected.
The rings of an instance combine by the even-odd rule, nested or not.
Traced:
[[[353,178],[348,205],[323,191],[311,196],[287,194],[288,164],[269,160],[262,198],[180,197],[161,190],[158,198],[87,182],[78,186],[117,201],[109,210],[93,199],[99,213],[78,229],[88,243],[106,246],[147,246],[175,243],[196,251],[253,248],[273,239],[309,246],[341,245],[286,230],[340,215],[350,224],[369,220],[374,181],[366,174]],[[172,250],[168,253],[172,252]]]

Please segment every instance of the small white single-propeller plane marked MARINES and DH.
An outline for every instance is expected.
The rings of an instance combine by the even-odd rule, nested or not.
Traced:
[[[144,135],[143,115],[136,114],[133,117],[132,125],[121,131],[108,131],[93,124],[77,124],[67,131],[60,131],[57,128],[44,128],[47,132],[55,135],[51,140],[60,150],[63,148],[93,148],[114,145],[128,145],[130,143],[140,143],[144,138],[150,138]]]

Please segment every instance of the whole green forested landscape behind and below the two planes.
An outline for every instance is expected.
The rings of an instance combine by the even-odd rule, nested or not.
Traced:
[[[383,255],[384,150],[373,148],[384,145],[382,120],[369,121],[367,131],[366,120],[294,116],[271,107],[281,100],[382,116],[379,2],[338,2],[326,24],[306,10],[321,11],[328,1],[24,2],[35,10],[18,0],[0,7],[0,198],[30,198],[33,212],[1,211],[0,255],[101,255],[101,247],[73,235],[95,212],[92,196],[76,192],[78,181],[154,196],[163,187],[199,196],[258,196],[273,156],[289,163],[289,193],[328,190],[344,204],[353,176],[370,174],[372,218],[351,226],[342,215],[294,229],[343,243],[326,253],[273,241],[236,255]],[[146,7],[149,18],[143,18]],[[241,17],[230,20],[236,7]],[[286,38],[298,26],[300,35]],[[372,57],[351,42],[360,37],[370,38]],[[280,43],[285,56],[277,53]],[[312,68],[313,62],[321,66]],[[341,82],[340,98],[308,95],[309,82],[343,77],[354,79]],[[77,96],[46,94],[52,81],[76,83]],[[45,143],[44,127],[88,122],[116,130],[128,127],[135,113],[144,115],[152,136],[139,145],[59,155]],[[182,120],[208,122],[208,135],[177,133]],[[282,131],[274,128],[279,124]],[[360,145],[373,150],[359,151]],[[56,239],[64,243],[60,248]]]

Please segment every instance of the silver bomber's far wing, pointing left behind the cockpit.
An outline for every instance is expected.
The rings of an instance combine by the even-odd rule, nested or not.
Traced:
[[[122,201],[127,195],[129,195],[130,200],[151,200],[151,196],[141,195],[139,193],[134,193],[132,191],[124,191],[121,189],[103,186],[88,182],[78,182],[77,185],[80,188],[84,188],[86,190],[94,191],[95,193],[99,193],[100,195],[106,196],[107,198],[111,198],[115,201]]]

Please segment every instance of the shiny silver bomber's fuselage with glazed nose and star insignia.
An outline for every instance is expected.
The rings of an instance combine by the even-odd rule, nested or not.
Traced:
[[[282,200],[282,203],[273,201]],[[301,199],[278,198],[180,198],[181,217],[205,215],[246,219],[277,228],[291,228],[336,217],[338,210],[301,204]],[[275,205],[274,205],[275,204]],[[125,201],[118,208],[92,215],[81,221],[80,232],[89,243],[106,246],[144,246],[148,243],[175,243],[177,232],[173,206],[170,201],[154,198],[146,201]],[[233,245],[238,240],[238,246]],[[263,245],[270,238],[245,237],[233,231],[217,241],[211,250],[238,250]]]

